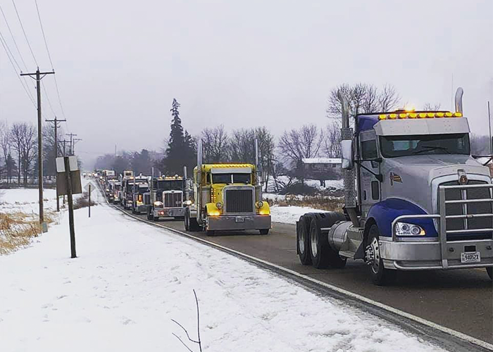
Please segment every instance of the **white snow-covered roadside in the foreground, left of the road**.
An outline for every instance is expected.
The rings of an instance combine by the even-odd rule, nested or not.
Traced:
[[[0,257],[1,351],[442,351],[384,320],[107,206]],[[194,351],[199,349],[189,344]]]

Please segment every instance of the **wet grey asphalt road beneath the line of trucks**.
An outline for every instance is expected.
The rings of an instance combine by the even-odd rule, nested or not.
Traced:
[[[160,219],[158,223],[185,232],[183,221]],[[392,286],[377,287],[362,261],[348,260],[344,269],[318,270],[301,265],[294,225],[274,223],[268,235],[256,231],[212,237],[204,232],[187,233],[493,344],[493,283],[485,269],[399,272]]]

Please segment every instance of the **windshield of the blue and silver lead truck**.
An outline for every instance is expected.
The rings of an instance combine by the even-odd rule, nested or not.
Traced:
[[[470,154],[469,135],[423,134],[411,136],[382,136],[380,149],[385,158],[434,154]]]

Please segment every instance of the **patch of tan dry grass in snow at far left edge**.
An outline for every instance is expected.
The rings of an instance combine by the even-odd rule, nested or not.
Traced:
[[[44,221],[55,221],[54,213],[45,213]],[[0,255],[11,253],[27,246],[33,237],[41,234],[41,226],[36,216],[25,213],[0,213]]]

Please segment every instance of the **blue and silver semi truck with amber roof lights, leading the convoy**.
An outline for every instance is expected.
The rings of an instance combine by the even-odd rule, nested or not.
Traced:
[[[359,114],[353,130],[338,94],[344,213],[301,216],[302,264],[344,268],[347,258],[362,259],[378,285],[397,270],[487,268],[492,278],[493,184],[470,155],[462,95],[459,88],[455,113]]]

